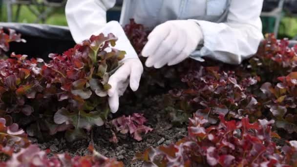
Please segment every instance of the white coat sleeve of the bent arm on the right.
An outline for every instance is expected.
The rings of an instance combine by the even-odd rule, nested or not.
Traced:
[[[263,0],[231,0],[227,21],[197,21],[203,35],[203,47],[191,58],[206,56],[224,63],[239,64],[253,56],[263,39],[260,14]]]

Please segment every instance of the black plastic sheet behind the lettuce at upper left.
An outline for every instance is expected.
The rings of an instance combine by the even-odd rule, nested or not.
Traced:
[[[10,43],[10,52],[16,54],[49,60],[48,54],[61,54],[75,45],[68,27],[65,26],[0,22],[0,27],[16,30],[27,41]]]

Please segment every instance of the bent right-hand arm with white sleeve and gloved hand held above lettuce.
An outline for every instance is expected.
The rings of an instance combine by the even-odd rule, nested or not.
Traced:
[[[167,21],[148,36],[142,51],[146,66],[174,65],[188,57],[202,61],[207,56],[239,64],[257,51],[263,39],[260,13],[263,0],[231,0],[227,21]],[[198,44],[203,43],[201,49]],[[198,50],[197,50],[198,49]]]

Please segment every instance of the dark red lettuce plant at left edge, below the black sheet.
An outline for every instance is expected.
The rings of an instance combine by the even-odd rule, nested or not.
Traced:
[[[41,59],[27,60],[26,55],[11,55],[10,59],[0,60],[0,109],[5,113],[22,112],[30,115],[34,109],[28,105],[41,93],[45,84],[41,83]]]

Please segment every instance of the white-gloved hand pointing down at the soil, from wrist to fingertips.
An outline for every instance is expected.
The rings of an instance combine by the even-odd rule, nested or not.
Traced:
[[[143,72],[142,63],[138,58],[127,59],[123,65],[110,76],[108,84],[111,88],[108,90],[108,104],[112,113],[119,108],[119,97],[122,96],[130,84],[130,88],[136,91],[139,87],[141,74]]]

